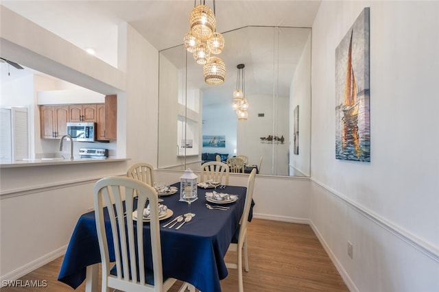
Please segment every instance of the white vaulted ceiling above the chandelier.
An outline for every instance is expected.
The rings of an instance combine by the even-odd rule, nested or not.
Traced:
[[[213,8],[213,1],[205,4]],[[189,30],[189,15],[194,1],[2,0],[1,5],[82,49],[92,47],[97,58],[117,66],[117,27],[120,23],[130,23],[161,51],[182,44],[182,37]],[[215,1],[217,32],[224,33],[248,25],[311,27],[319,5],[320,1],[312,0]],[[228,62],[223,55],[219,57],[226,63],[229,79],[235,82],[237,61]],[[252,61],[246,62],[250,65]],[[5,63],[0,63],[0,66],[2,71],[6,70]],[[246,69],[248,67],[246,64]]]

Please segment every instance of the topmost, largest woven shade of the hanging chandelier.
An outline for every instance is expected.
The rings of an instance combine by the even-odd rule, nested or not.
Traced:
[[[198,5],[193,8],[189,19],[191,32],[200,40],[208,40],[213,36],[216,27],[215,14],[207,5]]]

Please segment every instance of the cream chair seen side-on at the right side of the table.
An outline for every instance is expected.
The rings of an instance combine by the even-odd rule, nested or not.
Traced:
[[[250,208],[252,206],[253,197],[253,186],[254,177],[256,176],[256,169],[253,169],[248,176],[247,181],[247,193],[246,202],[244,204],[244,212],[242,212],[241,219],[239,220],[239,235],[237,240],[232,240],[228,246],[227,252],[236,252],[237,260],[236,263],[226,263],[226,267],[230,269],[238,269],[238,285],[239,292],[244,292],[244,280],[242,278],[242,251],[244,250],[244,267],[246,271],[248,268],[248,253],[247,253],[247,225],[248,225],[248,215],[250,213]]]

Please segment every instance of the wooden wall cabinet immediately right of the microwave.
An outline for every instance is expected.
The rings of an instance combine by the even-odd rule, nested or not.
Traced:
[[[117,95],[107,95],[105,104],[97,104],[97,140],[117,139]]]

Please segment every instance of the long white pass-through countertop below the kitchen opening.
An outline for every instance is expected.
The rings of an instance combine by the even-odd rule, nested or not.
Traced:
[[[47,165],[79,165],[84,163],[106,163],[131,160],[131,158],[74,158],[73,160],[64,158],[41,158],[35,160],[17,160],[11,163],[1,163],[1,169],[16,167],[42,167]]]

